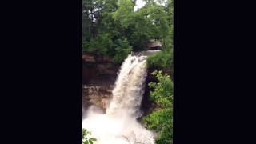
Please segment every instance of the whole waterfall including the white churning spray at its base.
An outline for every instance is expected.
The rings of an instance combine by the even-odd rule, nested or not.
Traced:
[[[154,144],[155,134],[136,120],[142,116],[146,57],[142,53],[130,54],[122,63],[106,114],[94,106],[87,110],[82,127],[92,131],[92,137],[98,139],[95,144]]]

